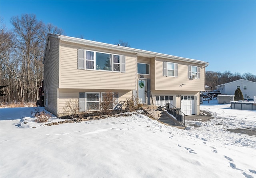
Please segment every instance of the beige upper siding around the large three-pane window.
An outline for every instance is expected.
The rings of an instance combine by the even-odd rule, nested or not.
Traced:
[[[78,49],[108,52],[126,56],[125,73],[78,69]],[[136,88],[136,55],[89,48],[62,42],[60,53],[60,88],[121,89]]]

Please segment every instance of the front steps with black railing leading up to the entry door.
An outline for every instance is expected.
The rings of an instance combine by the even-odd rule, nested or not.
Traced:
[[[175,123],[163,110],[161,110],[158,106],[142,106],[142,108],[148,112],[153,118],[156,120],[168,124],[170,126],[174,126]]]

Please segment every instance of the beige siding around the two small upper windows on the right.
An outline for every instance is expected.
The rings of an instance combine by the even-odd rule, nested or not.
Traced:
[[[178,77],[163,76],[163,62],[178,63]],[[200,79],[188,78],[188,65],[200,67]],[[169,61],[163,58],[155,60],[155,90],[182,90],[182,91],[200,91],[204,90],[205,68],[202,64],[185,63],[180,61]],[[153,84],[153,82],[152,82]],[[180,86],[181,84],[185,84]]]

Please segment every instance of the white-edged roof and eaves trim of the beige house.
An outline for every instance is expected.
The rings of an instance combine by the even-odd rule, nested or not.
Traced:
[[[89,46],[93,46],[93,47],[105,48],[105,49],[110,49],[110,50],[118,50],[118,51],[122,51],[122,52],[135,53],[138,56],[147,57],[147,58],[160,57],[160,58],[167,58],[167,59],[172,59],[172,60],[194,62],[194,63],[198,63],[198,64],[204,64],[207,66],[209,64],[208,62],[204,62],[201,60],[182,58],[182,57],[172,56],[172,55],[168,55],[168,54],[162,54],[162,53],[140,50],[140,49],[135,49],[135,48],[128,48],[128,47],[124,47],[124,46],[118,46],[118,45],[107,44],[107,43],[102,43],[102,42],[95,42],[95,41],[91,41],[91,40],[74,38],[74,37],[64,36],[64,35],[59,35],[59,34],[48,34],[47,35],[46,46],[44,49],[44,58],[45,58],[45,54],[46,54],[46,47],[48,45],[49,37],[58,38],[59,40],[66,41],[66,42],[73,42],[76,44],[83,44],[83,45],[89,45]],[[43,63],[44,63],[44,58],[43,58]]]

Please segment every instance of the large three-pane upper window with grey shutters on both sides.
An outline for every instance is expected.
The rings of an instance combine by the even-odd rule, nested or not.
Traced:
[[[78,69],[125,73],[125,56],[78,49]]]

